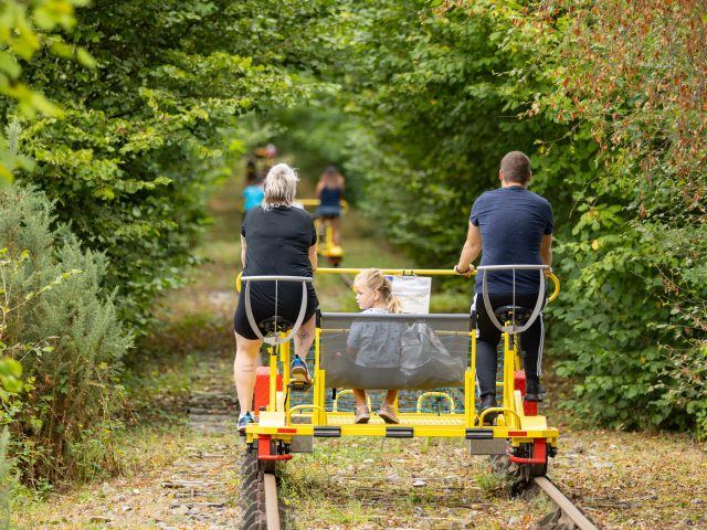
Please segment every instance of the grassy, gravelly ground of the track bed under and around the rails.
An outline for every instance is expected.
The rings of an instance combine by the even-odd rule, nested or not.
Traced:
[[[18,528],[238,528],[243,443],[234,433],[231,383],[236,204],[234,183],[212,200],[214,225],[199,250],[210,262],[167,298],[165,329],[144,344],[150,351],[145,365],[134,368],[141,388],[151,389],[144,390],[146,400],[171,415],[145,416],[116,438],[124,476],[27,502],[13,515]],[[347,219],[344,241],[347,266],[418,265],[386,247],[356,215]],[[356,310],[337,278],[318,278],[317,293],[327,310]],[[560,417],[552,401],[545,412],[552,423]],[[705,444],[559,427],[560,453],[549,475],[602,528],[707,528]],[[542,497],[508,498],[488,460],[469,457],[456,439],[317,441],[314,454],[296,455],[284,467],[283,484],[289,513],[307,530],[529,529],[551,511]]]

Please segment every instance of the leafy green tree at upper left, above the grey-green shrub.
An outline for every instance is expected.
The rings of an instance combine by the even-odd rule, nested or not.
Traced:
[[[64,117],[24,124],[20,149],[36,169],[18,179],[106,254],[124,319],[149,324],[156,295],[193,263],[205,197],[244,151],[229,137],[238,117],[306,96],[293,71],[318,67],[334,4],[96,1],[61,35],[95,67],[38,53],[24,68]]]

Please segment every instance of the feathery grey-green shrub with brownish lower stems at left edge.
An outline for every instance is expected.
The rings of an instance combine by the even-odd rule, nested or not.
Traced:
[[[0,191],[2,354],[12,359],[3,381],[2,424],[30,484],[91,478],[112,469],[119,423],[120,358],[130,346],[102,289],[105,256],[82,251],[52,205],[27,188]],[[18,384],[22,365],[23,381]]]

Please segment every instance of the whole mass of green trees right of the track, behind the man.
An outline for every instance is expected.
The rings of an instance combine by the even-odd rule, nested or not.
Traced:
[[[502,156],[528,152],[556,213],[548,358],[577,382],[568,406],[704,434],[704,2],[348,10],[339,97],[362,125],[342,152],[367,214],[420,263],[450,266]]]

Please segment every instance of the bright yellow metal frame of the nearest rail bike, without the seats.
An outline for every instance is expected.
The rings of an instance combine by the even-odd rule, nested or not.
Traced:
[[[319,268],[316,274],[357,274],[357,268]],[[388,275],[461,276],[453,271],[440,269],[383,269]],[[559,280],[548,276],[555,284],[555,292],[548,298],[552,301],[559,294]],[[506,322],[508,324],[508,322]],[[520,465],[532,466],[534,475],[544,475],[547,457],[553,456],[559,432],[548,426],[547,420],[537,414],[537,403],[524,404],[525,373],[519,370],[519,346],[517,333],[503,332],[503,381],[499,406],[485,411],[479,417],[476,413],[476,333],[468,332],[469,362],[464,374],[464,407],[449,413],[435,414],[422,412],[421,402],[439,392],[422,393],[415,412],[398,412],[399,425],[374,421],[368,424],[354,424],[351,412],[339,412],[336,400],[334,406],[326,407],[326,371],[321,368],[321,336],[327,333],[317,322],[315,337],[314,379],[312,403],[291,406],[292,392],[288,390],[291,344],[288,342],[271,346],[268,354],[268,374],[258,378],[256,394],[266,393],[267,404],[261,411],[257,423],[249,424],[246,444],[249,451],[257,447],[261,460],[286,460],[292,453],[312,452],[314,438],[341,436],[384,436],[393,438],[412,437],[456,437],[467,441],[471,454],[505,454]],[[307,359],[312,365],[313,359]],[[282,379],[281,379],[282,378]],[[284,381],[283,390],[278,380]],[[281,383],[282,384],[282,383]],[[266,388],[265,388],[266,386]],[[346,390],[344,391],[347,392]],[[339,396],[341,392],[339,392]],[[443,398],[453,400],[449,396]],[[496,425],[484,425],[484,416],[497,412]]]

